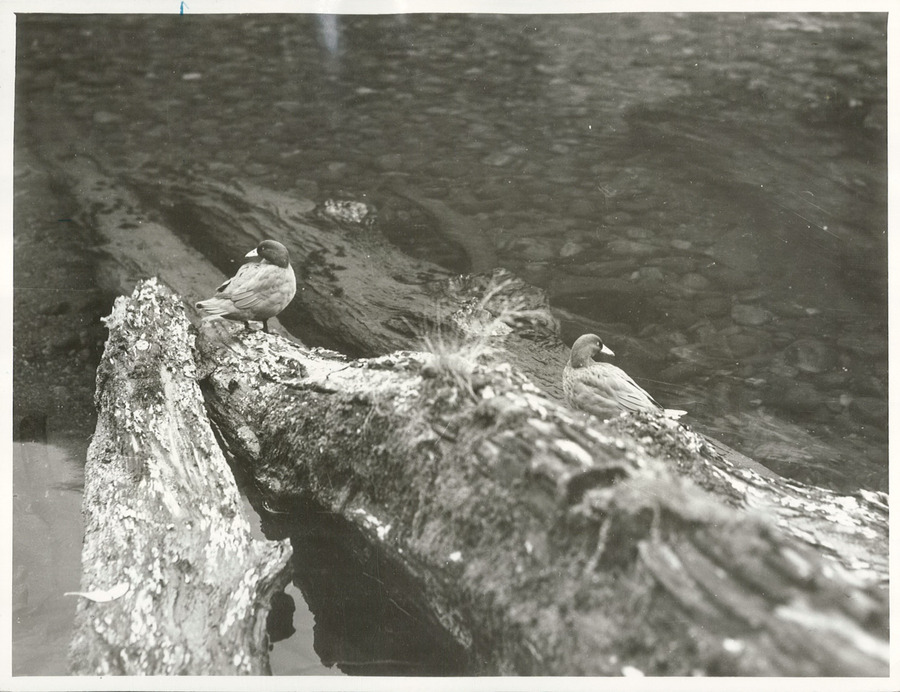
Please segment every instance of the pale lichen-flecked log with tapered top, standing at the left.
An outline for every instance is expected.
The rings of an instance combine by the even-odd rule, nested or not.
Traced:
[[[72,671],[266,673],[268,600],[290,578],[290,546],[250,538],[183,308],[148,281],[107,326]]]

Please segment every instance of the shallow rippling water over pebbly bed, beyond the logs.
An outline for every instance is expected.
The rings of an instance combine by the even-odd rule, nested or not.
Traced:
[[[43,136],[318,201],[414,185],[697,429],[887,489],[886,15],[18,26]]]

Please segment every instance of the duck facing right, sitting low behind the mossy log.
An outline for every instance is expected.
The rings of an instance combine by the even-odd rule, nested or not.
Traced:
[[[655,411],[673,419],[686,413],[663,408],[624,370],[612,363],[595,361],[597,353],[615,355],[596,334],[583,334],[572,344],[563,369],[563,395],[569,406],[601,419],[623,411]]]

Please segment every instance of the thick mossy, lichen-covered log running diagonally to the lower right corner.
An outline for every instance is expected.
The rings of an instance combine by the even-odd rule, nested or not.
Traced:
[[[259,333],[198,350],[270,501],[312,498],[380,544],[473,672],[887,671],[886,531],[865,501],[763,482],[650,415],[585,419],[507,364],[347,362]]]

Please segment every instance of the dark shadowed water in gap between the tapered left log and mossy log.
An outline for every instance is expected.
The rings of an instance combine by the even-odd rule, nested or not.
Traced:
[[[465,652],[400,560],[318,505],[274,513],[244,490],[251,517],[261,510],[256,537],[293,549],[291,583],[266,623],[275,675],[466,675]]]

